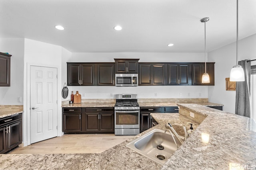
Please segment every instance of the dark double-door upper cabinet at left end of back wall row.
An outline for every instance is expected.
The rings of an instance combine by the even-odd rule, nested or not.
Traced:
[[[68,86],[93,86],[94,64],[68,64]]]

